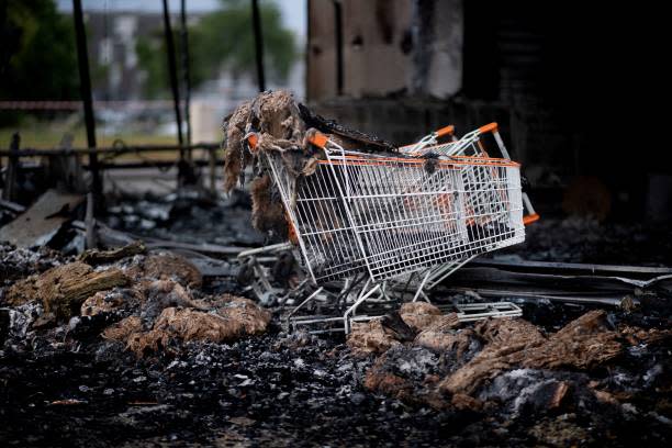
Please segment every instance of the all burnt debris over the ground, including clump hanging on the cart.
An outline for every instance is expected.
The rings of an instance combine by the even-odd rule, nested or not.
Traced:
[[[16,223],[1,232],[25,235],[0,243],[4,445],[660,446],[672,436],[664,226],[545,220],[524,246],[433,289],[432,303],[365,303],[347,337],[329,332],[343,326],[302,331],[345,312],[366,280],[311,284],[245,136],[257,132],[301,181],[320,158],[310,128],[393,149],[265,92],[227,121],[227,199],[110,197],[96,223],[82,221],[81,195],[0,204]],[[32,216],[35,232],[21,228]],[[100,247],[83,250],[90,232]],[[257,249],[269,235],[282,243]],[[651,266],[569,265],[624,260]],[[502,299],[523,316],[467,322],[456,306]],[[296,310],[304,326],[292,325]]]

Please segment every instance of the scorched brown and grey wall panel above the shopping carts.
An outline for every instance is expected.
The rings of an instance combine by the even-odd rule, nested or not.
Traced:
[[[309,99],[394,92],[455,94],[462,77],[462,2],[419,3],[423,4],[410,0],[309,1]],[[415,26],[418,20],[422,26]]]

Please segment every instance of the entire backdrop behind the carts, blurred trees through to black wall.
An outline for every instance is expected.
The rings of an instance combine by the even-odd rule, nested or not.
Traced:
[[[237,103],[283,88],[400,145],[496,121],[541,212],[670,220],[661,147],[632,147],[654,52],[632,31],[643,8],[583,3],[83,0],[96,143],[216,144]],[[91,146],[76,22],[71,0],[0,0],[0,148],[16,132],[22,148]]]

